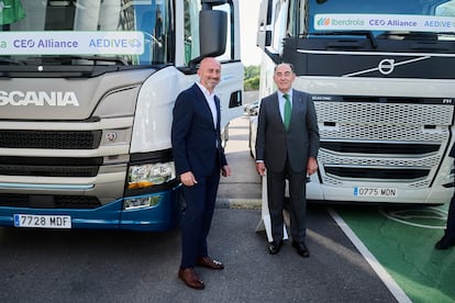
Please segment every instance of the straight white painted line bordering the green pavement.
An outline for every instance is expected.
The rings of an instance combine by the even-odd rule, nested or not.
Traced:
[[[373,270],[378,274],[379,279],[386,284],[391,294],[397,299],[398,302],[412,303],[404,291],[398,285],[393,278],[387,272],[387,270],[379,263],[376,257],[368,250],[364,243],[356,236],[351,227],[344,222],[344,220],[331,207],[328,211],[335,223],[340,226],[346,237],[352,244],[358,249],[365,260],[371,266]]]

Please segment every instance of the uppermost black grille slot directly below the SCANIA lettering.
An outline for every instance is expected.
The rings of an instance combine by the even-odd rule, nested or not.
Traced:
[[[2,148],[95,149],[101,131],[0,131]]]

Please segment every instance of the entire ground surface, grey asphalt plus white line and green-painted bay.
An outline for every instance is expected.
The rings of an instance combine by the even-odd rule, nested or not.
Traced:
[[[267,252],[262,186],[248,117],[231,125],[209,235],[222,271],[197,268],[206,290],[178,278],[180,232],[0,228],[0,302],[454,302],[455,249],[434,250],[446,205],[385,209],[310,204],[310,258],[287,242]]]

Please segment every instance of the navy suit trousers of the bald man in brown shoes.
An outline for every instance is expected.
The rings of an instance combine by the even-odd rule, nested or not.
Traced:
[[[210,176],[195,176],[198,183],[184,186],[186,209],[181,224],[181,268],[192,268],[196,259],[208,256],[207,237],[215,206],[220,170]]]

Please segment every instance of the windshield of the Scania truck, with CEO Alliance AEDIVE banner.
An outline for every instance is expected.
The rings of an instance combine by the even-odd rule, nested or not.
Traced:
[[[2,0],[0,66],[166,64],[169,1]]]

